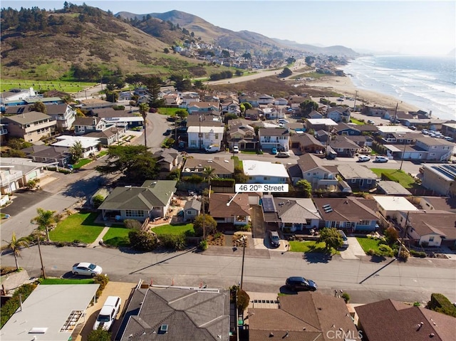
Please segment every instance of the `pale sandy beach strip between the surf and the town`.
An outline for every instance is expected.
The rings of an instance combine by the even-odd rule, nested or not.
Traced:
[[[398,110],[403,110],[405,112],[417,111],[420,109],[414,105],[403,103],[401,100],[398,100],[398,98],[394,98],[393,96],[356,88],[349,76],[325,76],[319,78],[318,80],[306,81],[306,85],[312,88],[325,88],[326,90],[333,90],[337,93],[342,93],[343,95],[353,98],[355,97],[356,91],[358,91],[358,95],[356,96],[357,100],[363,101],[366,105],[375,105],[377,107],[395,107],[396,104],[398,104]]]

